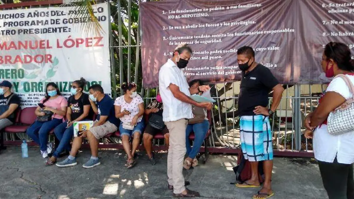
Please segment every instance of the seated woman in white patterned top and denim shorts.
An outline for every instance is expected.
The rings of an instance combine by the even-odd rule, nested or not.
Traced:
[[[120,119],[119,132],[122,138],[123,148],[128,156],[127,168],[135,165],[134,155],[139,146],[140,137],[144,130],[144,102],[136,92],[136,84],[124,83],[122,85],[124,95],[118,97],[115,102],[115,116]],[[132,146],[129,138],[133,136]]]

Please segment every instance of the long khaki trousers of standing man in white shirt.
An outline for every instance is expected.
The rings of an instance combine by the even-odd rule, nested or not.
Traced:
[[[185,129],[188,121],[180,119],[166,122],[170,132],[170,147],[167,155],[168,182],[173,186],[173,193],[179,194],[185,190],[183,177],[183,159],[187,149],[185,148]]]

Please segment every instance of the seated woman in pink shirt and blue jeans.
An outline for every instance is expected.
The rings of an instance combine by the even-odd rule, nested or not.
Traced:
[[[38,121],[38,119],[27,129],[27,135],[40,145],[43,158],[48,157],[48,153],[52,152],[52,144],[48,144],[48,133],[56,126],[63,123],[66,114],[68,101],[61,96],[58,86],[51,82],[46,86],[45,97],[41,99],[40,106],[35,110],[37,116],[44,116],[45,111],[52,112],[52,117],[48,121]]]

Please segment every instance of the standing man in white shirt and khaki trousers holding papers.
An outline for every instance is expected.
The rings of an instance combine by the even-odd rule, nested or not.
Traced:
[[[167,175],[169,189],[173,189],[175,197],[198,197],[199,193],[184,187],[183,159],[186,152],[185,130],[187,119],[193,118],[192,105],[211,108],[211,103],[198,103],[191,99],[189,86],[182,68],[188,64],[192,49],[187,44],[176,47],[173,57],[169,59],[159,72],[159,89],[164,105],[162,113],[164,122],[170,132],[170,147],[167,157]],[[209,86],[199,86],[195,92],[209,90]]]

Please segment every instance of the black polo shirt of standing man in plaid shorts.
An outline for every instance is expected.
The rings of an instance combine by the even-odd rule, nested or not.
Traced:
[[[256,106],[268,106],[268,93],[279,84],[272,72],[258,64],[256,68],[245,74],[242,72],[239,95],[239,115],[255,115]]]

